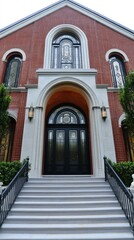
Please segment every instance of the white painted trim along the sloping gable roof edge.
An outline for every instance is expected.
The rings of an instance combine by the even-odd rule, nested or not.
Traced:
[[[94,11],[92,11],[92,10],[90,10],[90,9],[88,9],[88,8],[78,4],[78,3],[75,3],[71,0],[56,2],[55,4],[50,5],[49,7],[44,8],[43,10],[38,11],[38,12],[28,16],[28,17],[14,23],[13,25],[10,25],[7,28],[4,28],[0,33],[0,39],[9,35],[9,34],[11,34],[11,33],[13,33],[13,32],[15,32],[15,31],[17,31],[17,30],[19,30],[19,29],[21,29],[21,28],[23,28],[23,27],[25,27],[25,26],[27,26],[27,25],[29,25],[29,24],[31,24],[31,23],[33,23],[33,22],[35,22],[35,21],[37,21],[37,20],[39,20],[39,19],[41,19],[41,18],[43,18],[44,16],[47,16],[47,15],[65,7],[65,6],[68,6],[72,9],[84,14],[85,16],[88,16],[88,17],[92,18],[99,23],[102,23],[103,25],[105,25],[105,26],[107,26],[107,27],[109,27],[109,28],[127,36],[130,39],[134,39],[134,33],[133,33],[132,30],[130,30],[128,28],[125,28],[124,26],[122,26],[122,25],[120,25],[120,24],[102,16],[101,14],[98,14],[98,13],[96,13],[96,12],[94,12]]]

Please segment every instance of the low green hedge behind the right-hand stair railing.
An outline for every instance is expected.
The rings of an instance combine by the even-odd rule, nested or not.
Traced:
[[[111,164],[124,184],[127,187],[130,187],[132,182],[132,174],[134,174],[134,162],[112,162]]]

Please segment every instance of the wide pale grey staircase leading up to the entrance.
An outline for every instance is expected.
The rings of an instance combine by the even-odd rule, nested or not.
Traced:
[[[127,219],[103,178],[29,179],[0,230],[1,240],[132,240]]]

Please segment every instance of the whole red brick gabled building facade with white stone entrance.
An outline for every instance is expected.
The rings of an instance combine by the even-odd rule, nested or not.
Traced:
[[[29,156],[32,176],[103,175],[104,155],[127,161],[118,90],[133,53],[133,31],[72,0],[2,29],[0,83],[14,125],[5,158]]]

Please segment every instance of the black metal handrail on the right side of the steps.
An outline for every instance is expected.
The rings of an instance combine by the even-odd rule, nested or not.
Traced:
[[[134,198],[132,192],[125,186],[114,171],[108,159],[104,157],[105,181],[108,181],[117,197],[134,234]]]

